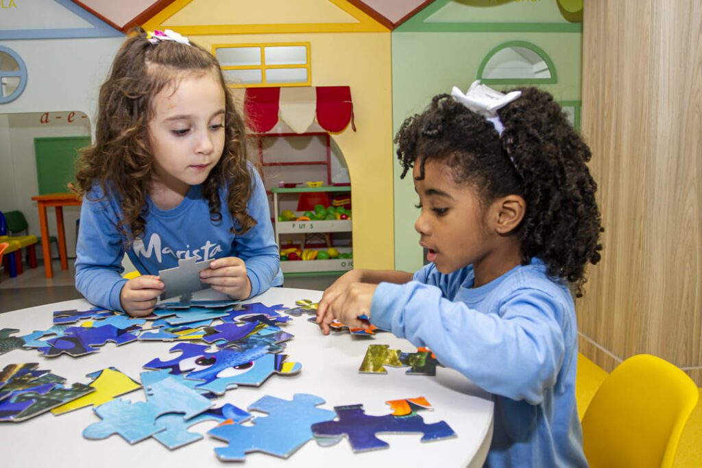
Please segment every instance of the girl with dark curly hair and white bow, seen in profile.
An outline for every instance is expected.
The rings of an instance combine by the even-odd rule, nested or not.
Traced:
[[[578,294],[600,260],[590,150],[552,96],[478,82],[438,95],[395,137],[412,170],[415,274],[353,270],[317,323],[369,323],[429,347],[495,395],[487,466],[587,466],[575,398]]]

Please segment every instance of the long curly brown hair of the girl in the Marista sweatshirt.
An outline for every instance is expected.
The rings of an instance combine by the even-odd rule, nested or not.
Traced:
[[[112,62],[100,88],[95,144],[81,151],[77,192],[88,194],[95,184],[121,201],[118,229],[131,244],[145,231],[147,187],[152,180],[153,156],[148,125],[154,117],[152,100],[166,86],[178,86],[188,73],[214,72],[225,91],[225,145],[222,157],[202,184],[210,218],[222,219],[220,187],[228,187],[227,208],[237,220],[234,234],[256,225],[246,212],[252,193],[246,163],[246,127],[234,106],[216,58],[197,44],[162,41],[152,44],[143,29],[127,39]]]

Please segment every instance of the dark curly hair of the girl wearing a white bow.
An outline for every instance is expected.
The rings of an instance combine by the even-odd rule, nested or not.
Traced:
[[[586,165],[590,149],[552,95],[531,87],[510,91],[522,95],[498,111],[501,136],[451,96],[435,96],[395,136],[401,177],[417,163],[423,178],[432,159],[449,166],[456,183],[474,187],[483,206],[522,196],[527,209],[515,231],[522,264],[540,258],[550,276],[575,283],[580,296],[585,266],[596,264],[602,250],[597,184]]]

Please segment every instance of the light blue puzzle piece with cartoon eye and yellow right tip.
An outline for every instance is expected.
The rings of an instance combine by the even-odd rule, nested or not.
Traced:
[[[239,385],[260,387],[273,374],[295,375],[300,373],[303,368],[302,364],[285,362],[287,357],[285,354],[264,354],[255,361],[220,372],[215,380],[198,385],[197,388],[223,395],[227,390],[237,388]]]

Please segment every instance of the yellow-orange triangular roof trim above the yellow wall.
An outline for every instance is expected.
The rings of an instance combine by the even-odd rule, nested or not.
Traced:
[[[185,8],[193,0],[176,0],[152,18],[143,27],[147,31],[164,29],[164,22]],[[343,11],[356,18],[356,23],[299,23],[277,25],[197,25],[171,26],[184,36],[203,36],[211,34],[290,34],[305,32],[390,32],[390,29],[380,24],[371,15],[353,6],[346,0],[329,0]]]

